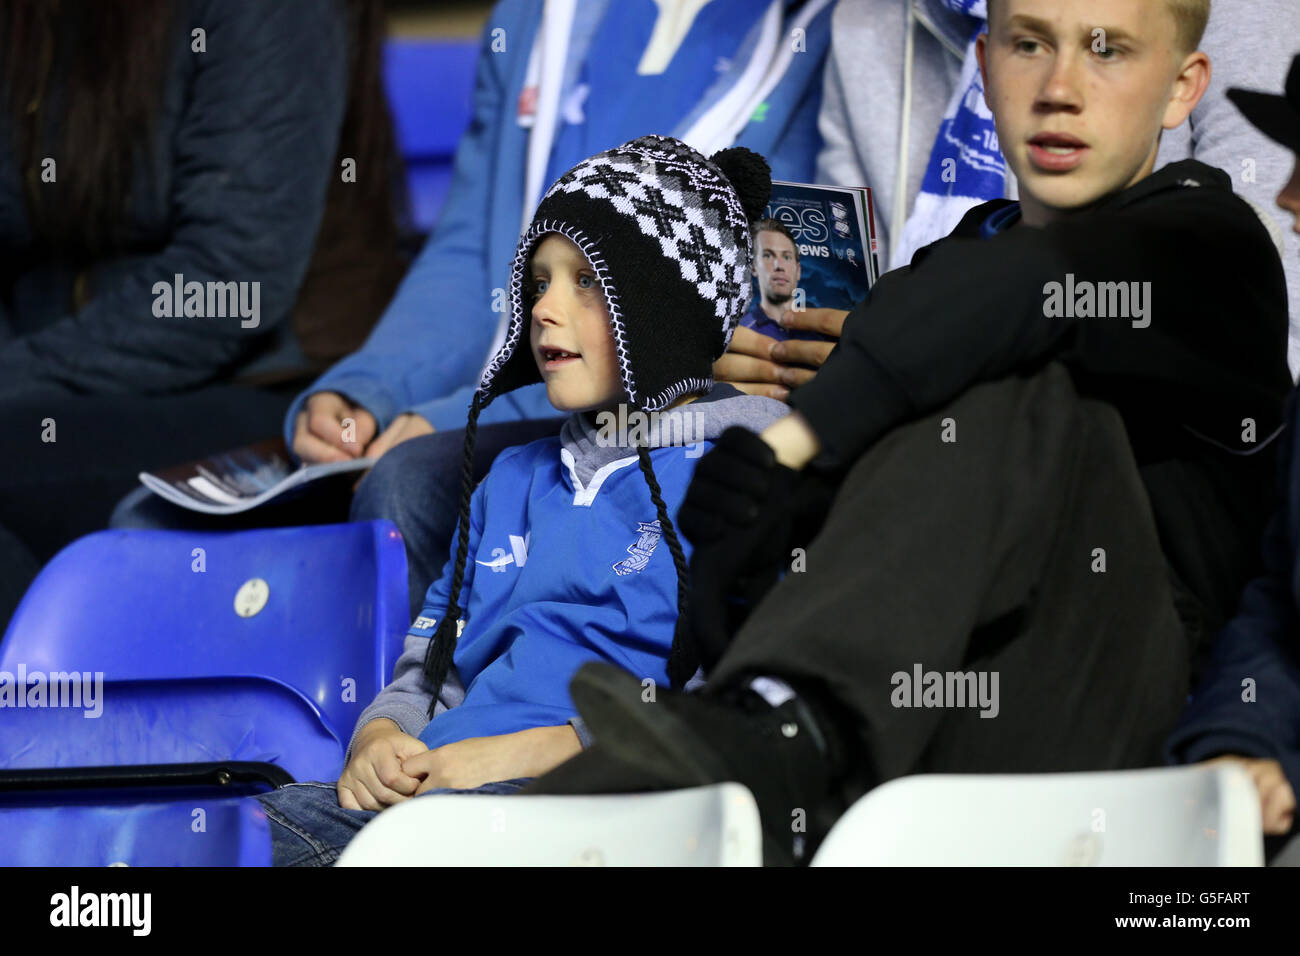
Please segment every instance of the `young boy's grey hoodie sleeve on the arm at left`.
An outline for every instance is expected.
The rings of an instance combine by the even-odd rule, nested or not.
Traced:
[[[469,553],[465,558],[465,576],[462,584],[462,597],[468,600],[473,587],[474,557],[478,554],[478,541],[484,531],[484,496],[488,483],[484,481],[474,490],[469,499]],[[454,557],[454,555],[452,555]],[[370,721],[386,717],[393,721],[404,734],[413,737],[429,723],[429,685],[424,679],[424,658],[429,649],[438,622],[447,607],[447,598],[451,593],[451,578],[455,571],[454,561],[448,559],[442,568],[442,575],[433,584],[424,597],[424,607],[420,615],[411,624],[402,656],[393,670],[393,680],[378,696],[361,711],[352,731],[352,740],[347,745],[344,766],[352,757],[352,745],[356,735]],[[464,685],[455,665],[447,671],[447,680],[438,697],[437,713],[460,706],[465,698]]]

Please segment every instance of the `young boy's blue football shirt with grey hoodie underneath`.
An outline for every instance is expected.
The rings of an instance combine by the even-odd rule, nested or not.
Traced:
[[[696,462],[714,438],[732,425],[762,431],[785,412],[780,402],[729,385],[664,412],[659,434],[684,441],[660,445],[651,433],[647,444],[670,515],[676,518]],[[689,545],[681,544],[689,558]],[[585,744],[568,693],[584,662],[606,661],[668,685],[677,619],[672,554],[634,449],[602,444],[584,418],[569,418],[556,438],[503,451],[474,490],[462,592],[465,626],[429,721],[432,695],[421,669],[452,570],[448,561],[429,588],[393,683],[361,713],[358,730],[387,718],[436,748],[572,723]]]

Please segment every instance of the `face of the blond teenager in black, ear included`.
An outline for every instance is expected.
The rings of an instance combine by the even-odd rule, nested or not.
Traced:
[[[1209,83],[1166,0],[998,0],[978,55],[1030,225],[1149,176]]]

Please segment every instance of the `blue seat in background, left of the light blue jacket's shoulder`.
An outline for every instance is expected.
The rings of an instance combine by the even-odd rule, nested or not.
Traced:
[[[387,42],[384,82],[407,166],[411,215],[421,232],[438,221],[460,137],[473,114],[477,40]]]

